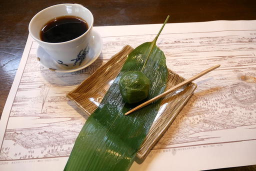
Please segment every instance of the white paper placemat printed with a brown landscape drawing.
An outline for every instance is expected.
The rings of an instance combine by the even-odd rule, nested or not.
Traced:
[[[57,73],[26,46],[0,120],[0,170],[63,170],[86,117],[65,94],[125,44],[151,41],[161,24],[94,27],[103,49],[92,65]],[[202,170],[256,164],[256,21],[166,24],[157,45],[168,68],[198,86],[163,137],[130,170]]]

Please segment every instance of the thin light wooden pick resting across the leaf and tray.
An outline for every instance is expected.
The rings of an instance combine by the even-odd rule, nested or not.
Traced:
[[[129,114],[129,113],[131,113],[131,112],[133,112],[133,111],[136,111],[136,110],[139,109],[139,108],[142,108],[142,107],[144,107],[144,106],[150,104],[151,102],[153,102],[153,101],[155,101],[155,100],[157,100],[157,99],[159,99],[159,98],[161,98],[161,97],[167,95],[168,93],[170,93],[171,91],[175,90],[176,88],[178,88],[178,87],[180,87],[180,86],[182,86],[182,85],[185,85],[185,84],[187,84],[187,83],[189,83],[189,82],[192,82],[193,80],[195,80],[195,79],[201,77],[202,75],[204,75],[204,74],[206,74],[206,73],[208,73],[208,72],[210,72],[210,71],[212,71],[212,70],[218,68],[219,66],[220,66],[220,64],[217,64],[217,65],[215,65],[215,66],[211,66],[211,67],[209,67],[208,69],[205,69],[205,70],[201,71],[200,73],[197,73],[196,75],[192,76],[191,78],[186,79],[186,80],[184,80],[183,82],[180,82],[179,84],[177,84],[177,85],[171,87],[170,89],[164,91],[163,93],[161,93],[161,94],[159,94],[159,95],[157,95],[157,96],[155,96],[155,97],[153,97],[153,98],[151,98],[151,99],[149,99],[149,100],[147,100],[147,101],[141,103],[140,105],[138,105],[138,106],[136,106],[135,108],[133,108],[133,109],[127,111],[127,112],[124,113],[124,114],[127,115],[127,114]]]

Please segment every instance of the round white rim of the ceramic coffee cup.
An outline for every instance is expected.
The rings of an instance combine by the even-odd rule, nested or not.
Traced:
[[[42,12],[44,12],[44,11],[47,10],[48,8],[52,8],[52,7],[55,7],[55,6],[61,6],[61,5],[79,5],[79,6],[83,7],[83,8],[85,8],[85,9],[91,14],[91,17],[92,17],[92,24],[89,26],[89,28],[88,28],[83,34],[81,34],[80,36],[78,36],[78,37],[76,37],[76,38],[74,38],[74,39],[68,40],[68,41],[55,42],[55,43],[53,43],[53,42],[42,41],[42,40],[36,38],[36,37],[31,33],[31,22],[32,22],[32,20],[34,20],[34,18],[35,18],[37,15],[39,15],[39,14],[42,13]],[[92,15],[91,11],[90,11],[88,8],[84,7],[83,5],[78,4],[78,3],[60,3],[60,4],[56,4],[56,5],[51,5],[51,6],[49,6],[49,7],[46,7],[46,8],[44,8],[44,9],[40,10],[39,12],[37,12],[37,13],[32,17],[32,19],[29,21],[29,24],[28,24],[28,32],[29,32],[29,34],[30,34],[36,41],[38,41],[38,42],[40,42],[40,43],[51,44],[51,45],[53,45],[53,44],[65,44],[65,43],[69,43],[69,42],[71,42],[71,41],[74,41],[74,40],[76,40],[76,39],[79,39],[81,36],[84,36],[85,34],[87,34],[87,33],[89,32],[89,30],[92,28],[93,22],[94,22],[94,18],[93,18],[93,15]]]

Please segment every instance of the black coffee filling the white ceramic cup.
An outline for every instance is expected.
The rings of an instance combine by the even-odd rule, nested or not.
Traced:
[[[85,20],[77,16],[60,16],[49,20],[40,31],[45,42],[64,42],[79,37],[88,29]]]

